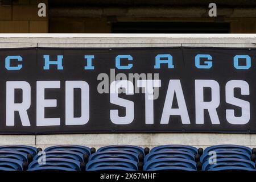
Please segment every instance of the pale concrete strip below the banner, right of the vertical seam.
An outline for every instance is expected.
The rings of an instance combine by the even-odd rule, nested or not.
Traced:
[[[203,148],[217,144],[238,144],[254,148],[256,134],[65,134],[36,137],[36,146],[46,148],[56,144],[80,144],[95,148],[112,144],[131,144],[150,148],[164,144],[185,144]]]

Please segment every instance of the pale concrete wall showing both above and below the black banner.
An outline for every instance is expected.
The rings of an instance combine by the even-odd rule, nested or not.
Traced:
[[[5,37],[3,37],[5,36]],[[256,47],[256,35],[14,35],[0,34],[0,48],[7,47]],[[40,38],[38,36],[41,36]],[[58,36],[59,38],[51,38]],[[204,36],[204,38],[199,38]],[[27,37],[27,38],[26,38]],[[61,37],[61,38],[60,38]],[[186,37],[186,38],[181,38]],[[162,144],[188,144],[208,147],[214,144],[240,144],[256,147],[256,134],[66,134],[0,135],[0,145],[28,144],[48,147],[55,144],[81,144],[101,147],[110,144],[133,144],[154,147]]]

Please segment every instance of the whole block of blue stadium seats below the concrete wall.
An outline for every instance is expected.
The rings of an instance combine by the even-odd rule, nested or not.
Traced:
[[[255,171],[256,149],[238,145],[196,148],[164,145],[149,148],[115,145],[97,150],[79,145],[36,148],[24,145],[0,146],[1,171]]]

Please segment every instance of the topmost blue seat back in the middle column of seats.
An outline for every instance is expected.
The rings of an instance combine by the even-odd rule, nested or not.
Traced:
[[[103,151],[127,151],[127,152],[135,152],[137,154],[144,155],[144,149],[138,146],[129,146],[129,145],[113,145],[113,146],[105,146],[101,147],[97,150],[97,152]]]

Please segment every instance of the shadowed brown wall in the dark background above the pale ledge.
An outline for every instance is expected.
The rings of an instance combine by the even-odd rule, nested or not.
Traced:
[[[38,3],[47,16],[38,16]],[[97,1],[96,1],[97,2]],[[78,6],[51,7],[48,0],[19,0],[0,5],[0,33],[110,33],[113,22],[226,22],[230,33],[256,33],[255,7],[218,6],[208,17],[208,6]]]

